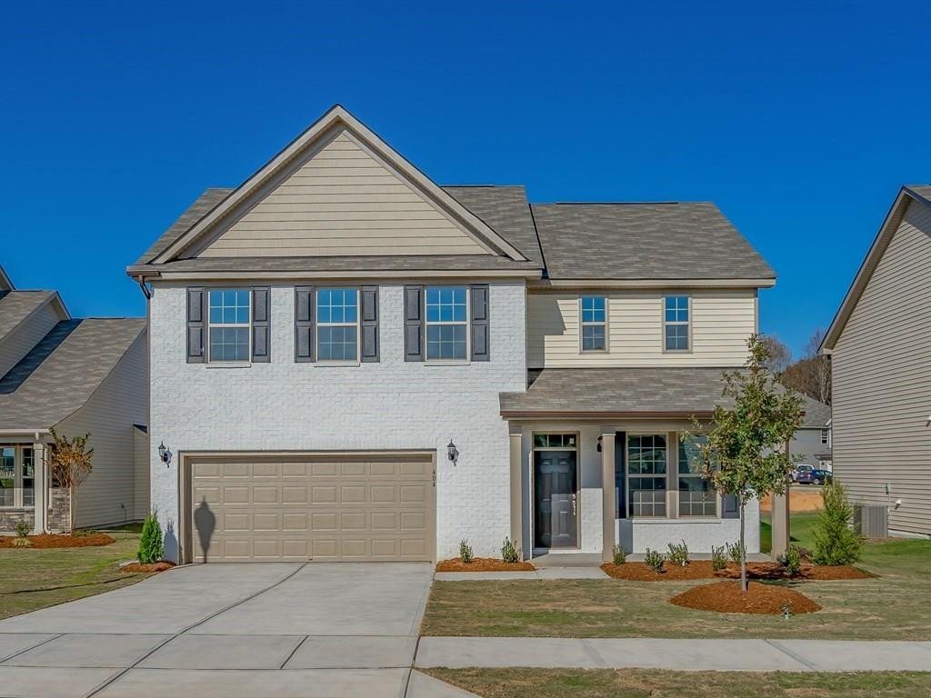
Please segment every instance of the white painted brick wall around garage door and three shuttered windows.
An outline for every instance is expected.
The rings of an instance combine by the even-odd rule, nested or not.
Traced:
[[[499,555],[509,523],[508,430],[498,393],[526,386],[524,285],[491,284],[490,362],[403,361],[402,284],[380,289],[381,362],[294,363],[293,287],[273,286],[272,361],[247,368],[186,364],[185,289],[155,284],[150,306],[152,503],[177,555],[178,464],[191,450],[434,450],[439,557],[459,541]],[[459,462],[446,445],[455,442]],[[158,461],[163,441],[176,457]]]

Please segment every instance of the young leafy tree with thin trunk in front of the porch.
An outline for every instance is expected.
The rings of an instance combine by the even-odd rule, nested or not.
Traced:
[[[698,445],[705,477],[720,494],[737,500],[740,588],[745,592],[747,503],[754,497],[786,491],[792,467],[786,445],[802,424],[802,398],[778,385],[766,369],[768,354],[760,336],[751,335],[747,348],[746,369],[722,374],[722,397],[733,400],[734,407],[715,407],[707,441]]]

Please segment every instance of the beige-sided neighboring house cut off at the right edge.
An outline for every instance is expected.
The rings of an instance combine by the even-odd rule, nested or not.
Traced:
[[[931,534],[931,186],[906,186],[821,350],[830,355],[834,475],[885,503],[892,530]]]

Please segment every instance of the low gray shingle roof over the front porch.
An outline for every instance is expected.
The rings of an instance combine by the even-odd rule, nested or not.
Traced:
[[[726,368],[543,369],[525,393],[501,393],[501,415],[529,418],[708,417]]]

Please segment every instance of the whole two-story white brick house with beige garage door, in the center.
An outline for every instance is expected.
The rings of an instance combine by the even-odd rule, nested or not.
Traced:
[[[738,537],[681,434],[746,360],[775,275],[713,204],[440,187],[337,106],[128,274],[150,296],[171,556]],[[751,552],[758,520],[750,503]]]

